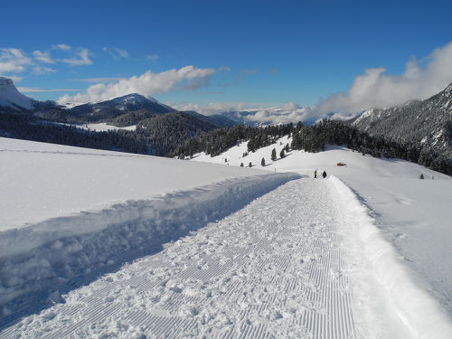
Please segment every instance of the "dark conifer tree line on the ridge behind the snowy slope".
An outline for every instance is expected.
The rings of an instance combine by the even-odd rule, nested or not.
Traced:
[[[347,146],[363,155],[400,158],[452,175],[452,159],[419,143],[396,142],[385,137],[372,137],[350,124],[330,119],[323,119],[310,127],[298,122],[296,126],[293,124],[268,127],[240,125],[216,129],[188,139],[175,149],[173,155],[184,158],[205,152],[216,156],[245,140],[250,140],[248,151],[254,152],[261,147],[273,144],[283,136],[292,137],[290,147],[295,150],[315,153],[325,150],[326,145]]]

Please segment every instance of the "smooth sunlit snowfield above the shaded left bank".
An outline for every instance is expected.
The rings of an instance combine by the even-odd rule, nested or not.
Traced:
[[[255,174],[267,172],[0,137],[0,231]]]

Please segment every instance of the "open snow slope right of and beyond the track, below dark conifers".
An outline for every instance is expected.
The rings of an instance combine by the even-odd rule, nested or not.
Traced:
[[[330,146],[316,154],[291,151],[280,159],[280,150],[290,144],[283,137],[277,144],[242,157],[247,143],[211,157],[197,154],[193,161],[223,165],[249,165],[268,171],[291,171],[314,176],[326,171],[340,178],[368,206],[385,238],[399,252],[404,265],[411,268],[412,278],[452,315],[452,178],[421,165],[399,159],[363,156],[345,147]],[[272,162],[271,150],[276,148],[278,160]],[[262,157],[266,166],[260,165]],[[227,163],[225,163],[227,159]],[[345,166],[338,166],[338,163]],[[420,174],[425,179],[419,180]]]

